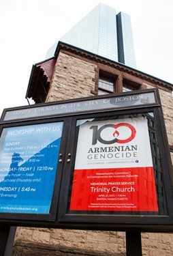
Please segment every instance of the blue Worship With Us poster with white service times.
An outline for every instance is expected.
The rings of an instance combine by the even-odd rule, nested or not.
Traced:
[[[63,122],[3,128],[0,212],[48,214]]]

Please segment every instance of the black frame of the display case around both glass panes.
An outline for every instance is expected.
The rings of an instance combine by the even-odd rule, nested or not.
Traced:
[[[30,110],[35,108],[52,110],[50,106],[63,106],[64,104],[76,104],[76,106],[82,105],[86,102],[94,102],[94,100],[106,100],[110,102],[114,98],[121,98],[123,101],[130,101],[132,96],[138,97],[141,94],[152,94],[154,99],[152,102],[145,101],[142,104],[130,104],[127,106],[104,106],[99,109],[78,109],[77,111],[67,111],[66,113],[52,114],[49,111],[45,111],[44,115],[22,115],[22,113],[31,113]],[[127,99],[127,100],[123,100]],[[134,99],[134,98],[133,98]],[[43,109],[44,108],[44,109]],[[55,108],[55,109],[56,109]],[[7,113],[16,113],[18,111],[18,117],[16,118],[5,118]],[[21,112],[20,112],[21,111]],[[159,151],[163,172],[163,183],[166,193],[166,201],[168,206],[168,214],[160,216],[143,216],[143,215],[119,215],[114,216],[111,214],[70,214],[67,211],[67,204],[69,200],[69,187],[70,177],[69,173],[72,172],[75,155],[74,151],[74,138],[75,138],[75,127],[76,119],[93,118],[93,117],[106,117],[108,115],[130,115],[152,112],[155,115],[155,125],[157,127],[157,138],[159,141]],[[21,115],[20,115],[21,113]],[[15,114],[16,115],[16,114]],[[168,139],[166,135],[166,128],[163,121],[163,113],[161,110],[161,102],[159,99],[158,89],[148,89],[144,91],[132,91],[123,94],[112,94],[106,96],[97,96],[90,98],[80,98],[75,100],[67,100],[56,103],[37,104],[37,106],[23,106],[18,108],[5,109],[1,117],[1,130],[5,127],[11,126],[23,126],[29,124],[42,124],[48,122],[59,122],[60,120],[65,121],[65,130],[63,130],[61,150],[60,150],[60,162],[58,169],[57,182],[58,186],[54,187],[54,197],[52,199],[52,206],[50,214],[16,214],[16,213],[0,213],[0,222],[5,225],[20,225],[20,226],[32,226],[32,227],[56,227],[56,228],[69,228],[69,229],[96,229],[96,230],[120,230],[120,231],[173,231],[173,200],[172,200],[172,188],[173,188],[173,176],[172,176],[172,164],[170,159],[170,152],[168,147]],[[166,159],[166,160],[165,160]],[[51,215],[52,214],[52,215]],[[56,215],[57,214],[57,215]],[[41,216],[41,218],[40,218]],[[51,217],[50,217],[51,216]]]

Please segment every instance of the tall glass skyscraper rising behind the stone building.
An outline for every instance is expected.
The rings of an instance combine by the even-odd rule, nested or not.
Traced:
[[[136,68],[131,21],[128,14],[99,3],[60,39],[95,55]],[[52,46],[47,58],[54,55],[57,43]]]

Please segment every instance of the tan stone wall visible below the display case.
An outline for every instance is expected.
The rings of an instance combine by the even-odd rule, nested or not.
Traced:
[[[14,256],[125,256],[125,233],[20,228],[16,232]],[[29,253],[29,254],[27,254]],[[142,256],[172,256],[173,235],[142,233]]]

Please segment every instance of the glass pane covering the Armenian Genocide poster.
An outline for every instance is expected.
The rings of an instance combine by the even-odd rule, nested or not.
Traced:
[[[163,215],[153,113],[78,119],[67,214]]]

